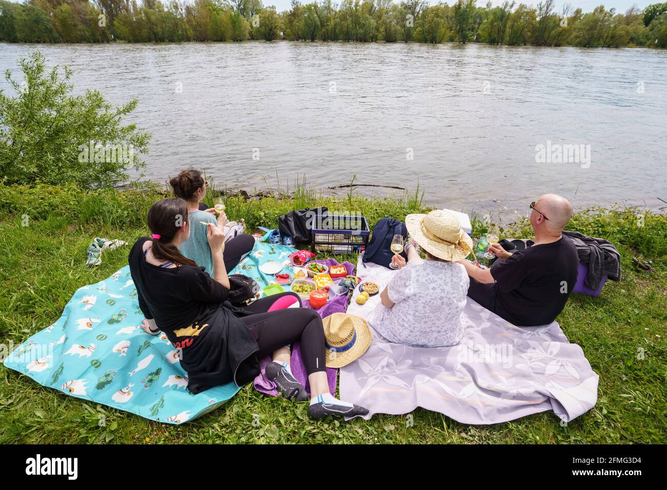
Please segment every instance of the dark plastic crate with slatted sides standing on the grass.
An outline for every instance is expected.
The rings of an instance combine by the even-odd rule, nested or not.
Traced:
[[[343,255],[364,251],[370,230],[363,216],[318,215],[312,234],[311,251]]]

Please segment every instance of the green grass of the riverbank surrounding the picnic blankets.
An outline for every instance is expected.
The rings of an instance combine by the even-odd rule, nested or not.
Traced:
[[[304,183],[275,190],[281,199],[225,199],[232,219],[249,228],[277,225],[291,209],[328,205],[360,211],[372,225],[384,216],[403,219],[420,211],[419,191],[398,199],[366,199],[352,193],[324,197]],[[105,279],[127,263],[128,247],[106,251],[103,263],[84,267],[94,237],[129,243],[147,233],[147,207],[162,191],[83,191],[75,187],[0,185],[0,343],[14,347],[57,320],[79,287]],[[296,199],[291,200],[295,195]],[[212,200],[212,199],[209,199]],[[27,205],[29,203],[29,205]],[[0,367],[0,443],[660,443],[667,427],[667,217],[638,210],[595,209],[579,213],[572,229],[615,243],[623,281],[608,282],[602,295],[572,295],[560,325],[600,375],[598,403],[566,427],[551,412],[491,425],[464,425],[417,409],[407,417],[375,415],[350,423],[308,418],[305,406],[266,397],[244,387],[227,405],[182,426],[68,397]],[[23,215],[29,216],[28,226]],[[23,221],[23,223],[22,223]],[[483,224],[474,219],[475,232]],[[526,223],[506,231],[528,236]],[[632,257],[650,261],[648,273]],[[339,257],[339,259],[354,257]],[[639,349],[644,359],[638,359]],[[106,426],[98,427],[99,414]],[[259,425],[253,425],[259,415]]]

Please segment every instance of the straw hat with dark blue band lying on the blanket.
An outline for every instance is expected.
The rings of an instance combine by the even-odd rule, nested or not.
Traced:
[[[362,317],[333,313],[323,319],[327,367],[343,367],[361,357],[371,345],[371,330]]]

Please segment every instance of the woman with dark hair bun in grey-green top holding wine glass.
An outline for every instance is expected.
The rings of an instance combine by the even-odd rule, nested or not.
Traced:
[[[169,181],[176,197],[183,199],[187,203],[189,221],[193,223],[190,232],[190,238],[180,247],[181,253],[195,261],[204,270],[213,275],[213,255],[207,240],[209,225],[201,223],[211,223],[221,229],[227,223],[225,213],[220,213],[217,220],[213,213],[215,209],[207,209],[201,201],[206,197],[207,181],[198,170],[184,170]],[[231,271],[236,265],[250,253],[255,246],[255,239],[252,235],[238,235],[225,243],[225,267]]]

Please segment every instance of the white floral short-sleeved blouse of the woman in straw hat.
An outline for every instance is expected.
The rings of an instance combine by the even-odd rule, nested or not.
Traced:
[[[456,345],[464,334],[468,273],[454,262],[406,265],[387,285],[391,309],[380,303],[368,323],[390,342],[412,347]]]

